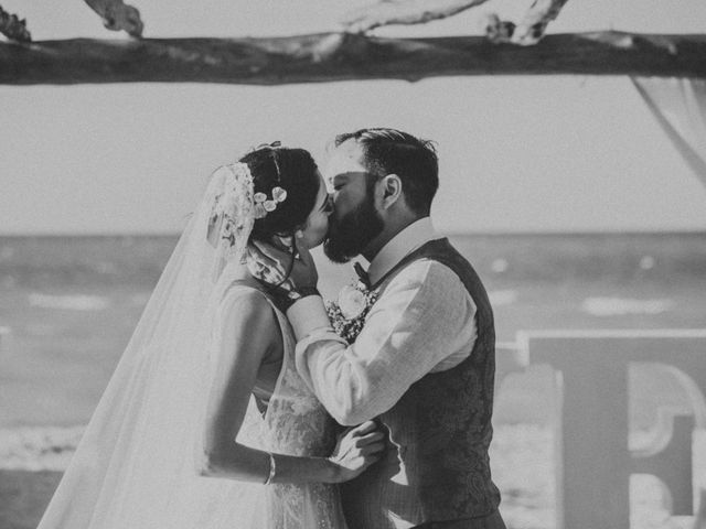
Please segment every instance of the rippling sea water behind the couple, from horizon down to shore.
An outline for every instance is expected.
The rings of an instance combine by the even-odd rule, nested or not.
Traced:
[[[522,330],[706,327],[706,233],[454,235],[498,339]],[[176,236],[0,237],[0,428],[82,424]],[[350,266],[321,253],[335,296]]]

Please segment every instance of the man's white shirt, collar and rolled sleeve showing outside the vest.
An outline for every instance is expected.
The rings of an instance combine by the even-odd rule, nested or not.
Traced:
[[[407,226],[371,262],[371,282],[438,238],[429,217]],[[477,336],[475,303],[463,283],[429,259],[391,280],[353,345],[334,333],[318,295],[296,302],[287,316],[298,341],[297,370],[329,413],[350,425],[387,411],[426,374],[457,366]]]

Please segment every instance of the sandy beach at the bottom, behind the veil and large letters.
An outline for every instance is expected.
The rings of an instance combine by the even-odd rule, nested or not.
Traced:
[[[83,427],[0,430],[0,527],[36,527],[82,432]],[[509,529],[556,529],[553,446],[554,434],[547,427],[495,428],[491,464]],[[695,466],[706,468],[706,450],[700,454]],[[697,476],[698,482],[706,484],[706,473]],[[633,476],[630,493],[632,528],[689,527],[691,517],[670,517],[660,484],[651,476]]]

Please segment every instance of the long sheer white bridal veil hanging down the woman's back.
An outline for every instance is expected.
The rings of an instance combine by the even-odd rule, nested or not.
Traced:
[[[245,164],[212,175],[38,529],[267,526],[263,485],[201,477],[194,463],[217,278],[247,244],[252,190]]]

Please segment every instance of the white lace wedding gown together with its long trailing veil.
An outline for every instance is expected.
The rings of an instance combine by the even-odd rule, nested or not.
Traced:
[[[238,291],[254,288],[232,277],[253,226],[252,180],[243,182],[238,165],[212,176],[38,529],[345,528],[333,485],[266,486],[196,471],[195,439],[217,369],[214,322]],[[238,191],[228,198],[237,229],[214,248],[208,227],[227,185]],[[329,455],[334,423],[299,378],[292,331],[272,307],[282,367],[264,413],[250,398],[237,439],[275,453]]]

